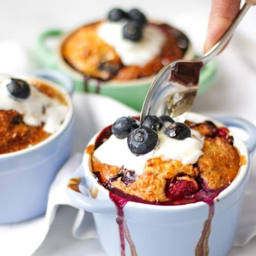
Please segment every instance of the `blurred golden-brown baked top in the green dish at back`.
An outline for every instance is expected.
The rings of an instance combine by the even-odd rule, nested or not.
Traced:
[[[104,22],[104,21],[102,21]],[[61,46],[61,55],[75,70],[100,80],[131,80],[152,76],[168,62],[184,56],[184,48],[179,40],[184,35],[167,24],[149,23],[148,26],[159,28],[165,35],[165,41],[159,56],[143,66],[125,66],[113,47],[97,34],[102,23],[95,22],[75,30]]]

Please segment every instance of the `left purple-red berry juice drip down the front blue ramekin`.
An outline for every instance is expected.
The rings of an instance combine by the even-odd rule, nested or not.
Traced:
[[[129,228],[127,227],[126,220],[124,218],[123,207],[128,202],[127,200],[120,198],[110,192],[110,199],[114,202],[117,210],[116,222],[119,226],[119,237],[120,237],[120,247],[121,256],[125,256],[125,240],[130,245],[131,255],[137,256],[135,245],[131,239]]]

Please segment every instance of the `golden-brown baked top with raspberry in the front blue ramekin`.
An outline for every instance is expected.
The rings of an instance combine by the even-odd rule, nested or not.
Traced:
[[[195,164],[152,158],[147,160],[143,173],[134,176],[133,170],[101,163],[90,150],[92,172],[110,190],[117,188],[124,195],[149,202],[182,204],[186,200],[203,200],[206,194],[210,197],[215,190],[220,192],[236,177],[241,165],[232,137],[228,129],[209,121],[187,124],[204,136],[203,155]]]

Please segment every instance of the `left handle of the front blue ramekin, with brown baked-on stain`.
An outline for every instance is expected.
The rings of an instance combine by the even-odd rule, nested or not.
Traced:
[[[74,189],[72,189],[69,184],[72,179],[87,179],[87,177],[84,177],[83,173],[83,166],[82,164],[77,168],[77,170],[72,174],[70,177],[68,186],[67,186],[67,193],[68,196],[72,202],[72,204],[80,209],[90,211],[90,212],[97,212],[97,213],[107,213],[107,214],[115,214],[115,205],[113,202],[111,202],[110,199],[105,200],[98,200],[93,199],[89,197],[89,195],[85,194],[84,191],[77,192]],[[83,183],[84,180],[81,180],[81,183]],[[78,186],[79,184],[77,184]],[[87,188],[86,188],[87,189]],[[87,189],[88,190],[88,189]],[[88,191],[89,194],[89,191]]]

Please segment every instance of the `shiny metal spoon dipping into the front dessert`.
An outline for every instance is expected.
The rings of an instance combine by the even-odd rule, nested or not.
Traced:
[[[185,121],[197,94],[201,69],[220,53],[249,8],[246,3],[243,5],[222,38],[203,57],[192,61],[177,60],[163,67],[145,97],[140,125],[148,115],[168,115],[176,122]]]

